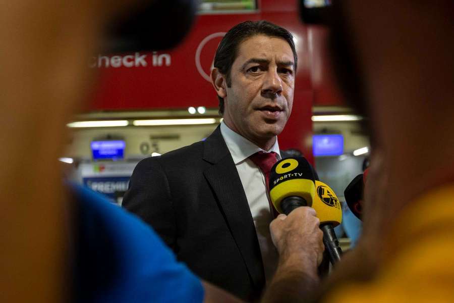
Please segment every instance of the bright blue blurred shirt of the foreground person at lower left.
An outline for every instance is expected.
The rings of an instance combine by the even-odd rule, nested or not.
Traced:
[[[77,302],[202,302],[200,280],[139,218],[71,185],[76,219]]]

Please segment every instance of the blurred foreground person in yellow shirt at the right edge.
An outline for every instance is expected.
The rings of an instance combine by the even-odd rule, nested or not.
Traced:
[[[362,238],[313,300],[453,301],[454,5],[332,3],[338,80],[373,144]]]

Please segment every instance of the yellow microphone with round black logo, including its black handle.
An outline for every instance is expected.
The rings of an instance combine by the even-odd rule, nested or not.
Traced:
[[[315,180],[315,197],[312,208],[320,219],[320,229],[323,231],[323,244],[329,255],[331,264],[341,260],[342,249],[334,233],[334,227],[342,223],[342,208],[334,190],[327,184]]]

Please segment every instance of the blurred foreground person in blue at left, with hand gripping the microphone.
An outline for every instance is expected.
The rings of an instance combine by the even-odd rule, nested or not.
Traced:
[[[2,302],[237,300],[178,263],[135,216],[86,188],[62,185],[65,125],[92,84],[85,62],[98,51],[104,26],[136,3],[18,0],[0,11],[7,41],[0,52]],[[277,272],[304,259],[312,267],[305,285],[312,285],[323,251],[315,213],[301,208],[279,220],[282,228],[297,227],[306,244],[289,255],[283,244],[291,239],[275,235]]]

